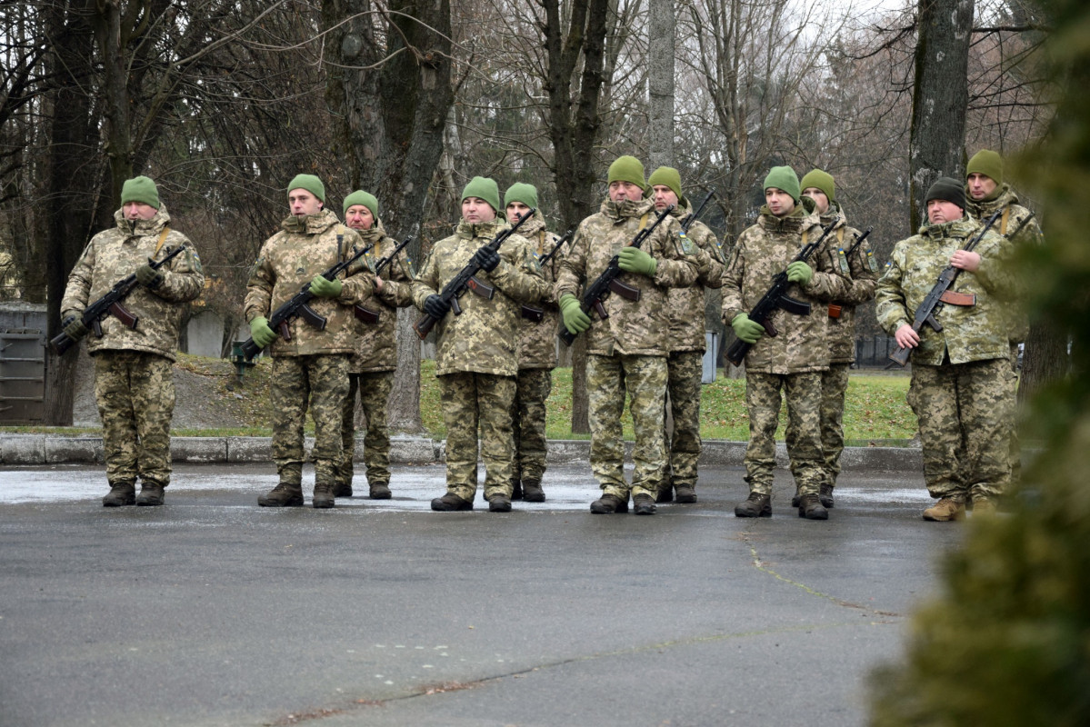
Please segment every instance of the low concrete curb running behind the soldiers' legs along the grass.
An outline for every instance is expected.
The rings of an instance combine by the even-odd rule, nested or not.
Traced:
[[[626,459],[631,461],[632,443],[625,443]],[[306,455],[314,439],[306,439]],[[356,440],[355,459],[363,459],[363,440]],[[170,453],[175,462],[268,462],[270,437],[173,437]],[[548,461],[571,464],[590,461],[591,443],[586,439],[550,439]],[[740,465],[746,457],[744,441],[705,440],[701,464]],[[446,441],[426,437],[390,437],[390,462],[431,464],[446,459]],[[63,437],[46,434],[0,434],[0,464],[102,463],[102,438]],[[776,444],[776,464],[787,467],[787,448]],[[840,457],[846,470],[876,472],[919,472],[923,460],[919,447],[846,447]]]

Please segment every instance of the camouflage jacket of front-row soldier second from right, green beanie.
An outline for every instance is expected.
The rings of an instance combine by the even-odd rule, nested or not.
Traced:
[[[772,278],[787,267],[806,242],[821,237],[813,201],[802,197],[787,217],[774,216],[761,207],[756,225],[738,235],[730,263],[723,274],[723,320],[727,326],[739,313],[749,313],[768,291]],[[833,235],[811,256],[813,277],[806,286],[792,284],[787,294],[810,303],[810,315],[777,308],[771,320],[778,336],[762,336],[746,354],[747,371],[765,374],[798,374],[828,368],[827,305],[844,298],[848,280],[840,275]]]

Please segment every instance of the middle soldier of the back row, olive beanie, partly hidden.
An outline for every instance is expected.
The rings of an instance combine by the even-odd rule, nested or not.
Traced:
[[[681,194],[681,175],[671,167],[659,167],[647,178],[655,211],[674,205],[670,216],[685,222],[693,214],[689,199]],[[697,220],[689,232],[676,228],[694,246],[697,282],[689,288],[671,288],[666,293],[669,319],[669,355],[666,359],[666,390],[669,393],[674,435],[664,437],[669,464],[658,485],[658,502],[697,501],[697,462],[700,460],[700,395],[704,376],[704,290],[723,286],[723,256],[719,241],[706,225]],[[686,240],[681,240],[686,247]],[[675,494],[676,493],[676,494]]]

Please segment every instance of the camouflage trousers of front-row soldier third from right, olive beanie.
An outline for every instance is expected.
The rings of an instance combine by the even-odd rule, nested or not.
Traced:
[[[663,439],[666,414],[666,359],[614,354],[586,356],[586,398],[591,424],[591,472],[604,495],[658,495],[666,470]],[[625,482],[621,416],[628,393],[632,413],[632,485]]]

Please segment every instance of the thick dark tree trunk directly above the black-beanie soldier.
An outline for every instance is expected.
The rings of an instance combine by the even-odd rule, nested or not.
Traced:
[[[923,196],[937,178],[965,179],[972,14],[973,0],[920,0],[909,134],[911,230],[925,216]]]

